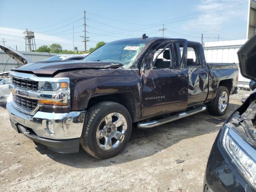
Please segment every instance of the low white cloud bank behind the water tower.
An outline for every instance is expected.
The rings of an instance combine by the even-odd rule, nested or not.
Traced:
[[[23,51],[25,50],[25,39],[23,34],[24,31],[25,30],[20,30],[16,28],[0,27],[0,40],[3,41],[2,38],[4,38],[4,41],[6,41],[5,45],[12,48],[16,48],[17,46],[18,50]],[[67,40],[58,36],[46,36],[37,33],[35,33],[35,42],[37,48],[42,45],[60,43],[63,44],[63,49],[71,50],[71,47],[73,45],[73,42],[71,40]],[[3,42],[1,42],[1,44],[3,44]]]

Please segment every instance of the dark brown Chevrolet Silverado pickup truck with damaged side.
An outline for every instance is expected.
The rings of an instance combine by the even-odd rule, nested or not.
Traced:
[[[79,146],[117,155],[133,123],[152,128],[206,110],[225,114],[236,64],[206,63],[200,43],[148,37],[109,42],[84,60],[31,63],[10,72],[12,127],[60,153]]]

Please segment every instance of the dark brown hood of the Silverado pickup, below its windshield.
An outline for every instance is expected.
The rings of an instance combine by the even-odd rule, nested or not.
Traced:
[[[110,62],[85,62],[83,60],[70,60],[70,61],[49,61],[49,62],[35,62],[26,64],[12,70],[20,72],[33,72],[34,74],[52,75],[56,72],[80,69],[108,69],[119,68],[122,64],[114,64]]]

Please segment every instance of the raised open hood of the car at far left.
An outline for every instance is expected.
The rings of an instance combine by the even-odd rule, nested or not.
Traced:
[[[10,47],[4,46],[4,45],[0,45],[0,48],[4,52],[6,52],[6,54],[8,54],[11,58],[16,60],[20,64],[28,64],[28,63],[32,63],[33,62],[30,58],[28,58],[24,54],[14,50],[14,49],[12,49]]]

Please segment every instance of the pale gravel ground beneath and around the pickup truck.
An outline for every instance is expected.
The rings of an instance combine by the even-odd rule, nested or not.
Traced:
[[[238,108],[245,94],[250,92],[230,96],[221,118]],[[81,148],[58,154],[35,144],[12,130],[0,107],[0,191],[202,192],[208,156],[223,124],[209,118],[216,117],[202,112],[147,130],[134,127],[122,154],[98,160]]]

